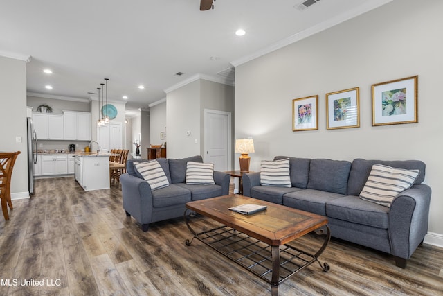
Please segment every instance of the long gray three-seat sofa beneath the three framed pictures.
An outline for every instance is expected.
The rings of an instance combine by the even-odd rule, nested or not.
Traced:
[[[243,194],[327,216],[332,236],[392,254],[396,265],[406,268],[428,231],[431,188],[422,184],[424,162],[275,157],[284,158],[289,158],[291,188],[261,186],[260,173],[248,173]],[[384,207],[359,198],[373,164],[418,169],[419,175]]]

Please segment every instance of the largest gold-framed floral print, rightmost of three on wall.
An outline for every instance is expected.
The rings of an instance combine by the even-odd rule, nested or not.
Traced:
[[[372,125],[418,122],[418,76],[372,85]]]

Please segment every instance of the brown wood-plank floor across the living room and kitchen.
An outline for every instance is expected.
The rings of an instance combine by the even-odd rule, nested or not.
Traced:
[[[0,295],[270,295],[271,287],[191,238],[183,218],[142,232],[125,216],[119,184],[84,192],[73,177],[37,180],[0,220]],[[198,227],[213,224],[197,216]],[[320,244],[308,234],[303,247]],[[318,264],[280,295],[443,295],[443,249],[421,245],[406,269],[392,256],[332,239]]]

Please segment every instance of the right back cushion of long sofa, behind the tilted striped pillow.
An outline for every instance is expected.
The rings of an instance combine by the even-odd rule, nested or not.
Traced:
[[[419,170],[420,173],[415,179],[414,184],[420,184],[424,182],[424,175],[426,171],[426,165],[419,160],[367,160],[357,158],[352,162],[352,168],[349,175],[349,181],[347,182],[347,194],[348,195],[360,195],[360,192],[365,186],[366,180],[368,180],[370,171],[374,164],[383,164],[385,166],[392,166],[394,168],[404,168],[406,170]]]

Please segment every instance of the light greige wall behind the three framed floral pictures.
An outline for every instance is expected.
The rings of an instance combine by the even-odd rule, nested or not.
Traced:
[[[239,65],[236,138],[254,138],[251,170],[275,155],[421,159],[433,189],[429,232],[443,238],[442,11],[443,1],[392,1]],[[414,75],[419,123],[373,127],[371,85]],[[360,128],[326,130],[325,94],[352,87],[360,87]],[[316,94],[318,130],[293,132],[292,99]]]

